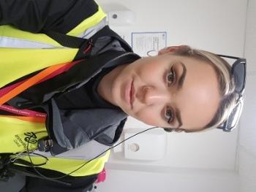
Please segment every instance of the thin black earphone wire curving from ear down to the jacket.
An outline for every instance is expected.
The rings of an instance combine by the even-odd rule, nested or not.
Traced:
[[[122,140],[121,142],[118,142],[118,144],[113,145],[112,147],[109,147],[107,150],[103,151],[102,153],[99,153],[99,155],[97,155],[97,156],[95,156],[94,158],[91,158],[91,160],[89,160],[89,161],[83,163],[81,166],[79,166],[77,169],[73,170],[72,172],[69,172],[68,174],[64,174],[64,175],[61,176],[61,177],[47,177],[47,176],[45,176],[44,174],[40,173],[40,172],[36,169],[36,167],[34,166],[34,164],[33,164],[33,162],[32,162],[31,155],[29,154],[29,140],[31,139],[31,137],[29,137],[29,140],[28,140],[27,155],[29,156],[29,161],[30,161],[31,167],[34,169],[35,172],[37,172],[37,174],[39,174],[39,176],[43,177],[45,180],[52,180],[52,181],[60,182],[60,181],[59,181],[60,179],[62,179],[62,178],[64,178],[64,177],[67,177],[67,176],[69,176],[70,174],[72,174],[72,173],[74,173],[74,172],[77,172],[79,169],[82,169],[83,166],[86,166],[86,165],[89,164],[91,161],[94,161],[94,159],[96,159],[96,158],[98,158],[100,155],[102,155],[102,154],[108,152],[108,150],[111,150],[111,149],[113,149],[114,147],[116,147],[116,146],[118,146],[118,145],[121,145],[123,142],[126,142],[128,139],[132,139],[132,137],[135,137],[135,136],[137,136],[138,134],[143,134],[144,132],[149,131],[149,130],[154,129],[154,128],[159,128],[159,127],[158,127],[158,126],[154,126],[154,127],[151,127],[151,128],[147,128],[147,129],[145,129],[145,130],[143,130],[143,131],[140,131],[140,132],[138,132],[137,134],[133,134],[132,136],[128,137],[127,139],[124,139],[124,140]],[[41,131],[41,132],[42,132],[42,131]],[[39,133],[39,132],[37,132],[36,134],[38,134],[38,133]],[[45,158],[46,158],[46,157],[45,157]],[[48,158],[46,158],[46,159],[47,159],[47,161],[48,161]],[[46,161],[46,163],[47,163],[47,161]],[[45,163],[45,164],[46,164],[46,163]],[[69,185],[69,184],[67,184],[67,183],[64,183],[64,184]]]

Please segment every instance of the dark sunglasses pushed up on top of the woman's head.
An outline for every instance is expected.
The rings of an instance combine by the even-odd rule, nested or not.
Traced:
[[[246,59],[228,55],[219,56],[222,58],[236,59],[231,67],[231,74],[235,81],[235,93],[238,94],[238,99],[236,99],[236,106],[233,108],[232,112],[230,112],[227,120],[225,120],[220,126],[217,127],[223,131],[229,132],[236,127],[244,104],[243,95],[246,82]]]

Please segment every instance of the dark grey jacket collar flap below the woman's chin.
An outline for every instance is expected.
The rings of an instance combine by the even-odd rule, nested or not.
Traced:
[[[59,110],[54,99],[50,100],[47,108],[45,112],[51,117],[46,126],[53,139],[52,155],[80,147],[92,139],[112,146],[120,137],[127,120],[127,115],[121,110]]]

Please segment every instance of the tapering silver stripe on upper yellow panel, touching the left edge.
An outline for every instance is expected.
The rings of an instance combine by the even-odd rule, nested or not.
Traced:
[[[0,37],[0,47],[12,47],[12,48],[53,48],[53,45],[49,45],[43,42],[34,42],[27,39],[20,39],[15,37]]]

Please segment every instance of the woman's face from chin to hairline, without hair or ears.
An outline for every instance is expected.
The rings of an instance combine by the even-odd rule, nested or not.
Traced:
[[[151,126],[198,130],[217,112],[219,86],[205,61],[177,55],[141,58],[113,81],[112,103]]]

